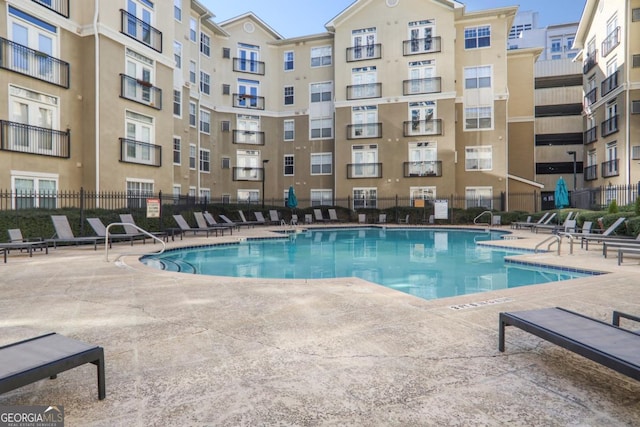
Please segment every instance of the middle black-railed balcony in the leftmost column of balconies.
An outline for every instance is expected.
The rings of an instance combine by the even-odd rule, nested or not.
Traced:
[[[0,37],[0,68],[69,89],[69,64]]]

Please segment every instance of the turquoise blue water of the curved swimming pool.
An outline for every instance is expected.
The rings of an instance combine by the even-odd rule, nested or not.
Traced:
[[[584,277],[505,262],[522,252],[478,245],[504,232],[434,228],[321,229],[282,239],[169,250],[143,262],[170,271],[231,277],[359,277],[425,299]]]

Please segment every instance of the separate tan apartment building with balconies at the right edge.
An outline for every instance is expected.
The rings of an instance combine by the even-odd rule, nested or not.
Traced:
[[[586,185],[635,184],[640,181],[640,0],[587,0],[575,46],[582,61]]]

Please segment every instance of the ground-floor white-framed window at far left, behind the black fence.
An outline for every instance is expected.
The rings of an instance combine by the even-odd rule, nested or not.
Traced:
[[[58,175],[11,171],[12,209],[57,208]]]

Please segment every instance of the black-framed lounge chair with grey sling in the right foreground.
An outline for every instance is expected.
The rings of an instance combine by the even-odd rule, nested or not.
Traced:
[[[564,308],[500,313],[498,350],[504,352],[505,328],[515,326],[553,344],[640,380],[640,334],[620,327],[620,318],[640,317],[613,312],[611,324]]]

